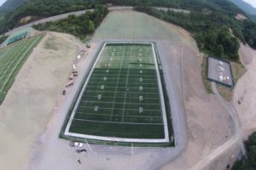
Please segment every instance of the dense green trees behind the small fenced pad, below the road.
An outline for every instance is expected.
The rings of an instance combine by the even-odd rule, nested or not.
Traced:
[[[198,47],[208,54],[233,60],[239,57],[239,42],[236,37],[232,37],[229,27],[221,24],[227,20],[226,16],[222,17],[213,12],[203,14],[201,11],[183,14],[148,7],[136,9],[187,29],[195,37]]]

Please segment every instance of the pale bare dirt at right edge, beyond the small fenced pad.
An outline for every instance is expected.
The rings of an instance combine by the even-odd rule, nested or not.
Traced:
[[[247,139],[250,133],[256,131],[256,51],[241,43],[240,56],[247,72],[236,83],[233,105],[239,114],[243,138]]]

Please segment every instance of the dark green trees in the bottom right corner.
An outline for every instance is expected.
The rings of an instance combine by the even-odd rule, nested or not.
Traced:
[[[232,170],[255,170],[256,169],[256,132],[253,133],[246,142],[247,158],[242,157],[236,161]]]

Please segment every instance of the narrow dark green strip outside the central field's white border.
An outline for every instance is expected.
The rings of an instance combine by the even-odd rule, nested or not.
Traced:
[[[60,139],[67,139],[67,140],[77,141],[77,142],[81,142],[81,143],[106,144],[106,145],[113,145],[113,146],[131,146],[131,144],[134,147],[172,147],[172,146],[174,146],[173,133],[170,133],[170,132],[173,132],[173,130],[172,130],[172,120],[168,119],[168,117],[171,117],[171,108],[170,108],[169,99],[168,99],[168,96],[167,96],[167,93],[166,93],[166,85],[165,85],[166,83],[163,80],[164,79],[164,77],[163,77],[164,74],[163,74],[163,71],[160,70],[160,69],[159,69],[160,70],[160,79],[161,79],[161,82],[162,82],[163,94],[164,94],[164,99],[165,99],[165,104],[166,104],[166,119],[167,119],[167,125],[168,125],[168,133],[169,133],[169,137],[171,137],[169,143],[156,143],[156,144],[154,144],[154,143],[110,142],[110,141],[106,141],[106,140],[84,139],[84,138],[65,135],[65,129],[67,127],[67,122],[68,122],[68,120],[69,120],[69,118],[72,114],[73,107],[76,103],[76,100],[79,98],[79,93],[80,93],[81,89],[83,88],[84,82],[86,81],[87,77],[89,76],[89,73],[90,73],[94,63],[96,62],[96,59],[97,59],[98,55],[100,54],[100,52],[101,52],[105,43],[108,43],[108,42],[102,42],[102,44],[100,45],[100,47],[98,48],[98,50],[97,50],[97,52],[94,56],[94,59],[92,59],[92,61],[90,62],[90,67],[89,67],[88,71],[86,71],[86,73],[84,75],[84,78],[83,78],[82,82],[79,85],[79,90],[75,94],[75,97],[73,98],[73,102],[72,102],[69,110],[67,111],[67,116],[66,116],[66,118],[63,122],[63,125],[61,127],[61,133],[59,134],[59,138]],[[137,43],[137,42],[134,42],[134,43]],[[159,57],[159,54],[158,54],[158,51],[157,51],[157,48],[156,48],[156,44],[155,44],[155,42],[150,42],[150,43],[154,43],[154,50],[155,50],[155,54],[156,54],[156,57],[157,57],[157,62],[158,62],[158,65],[160,65],[160,57]],[[170,134],[172,134],[172,135],[170,135]]]

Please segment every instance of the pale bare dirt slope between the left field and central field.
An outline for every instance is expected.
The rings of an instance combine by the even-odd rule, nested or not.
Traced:
[[[80,46],[72,36],[49,32],[26,60],[0,106],[0,169],[26,167]]]

